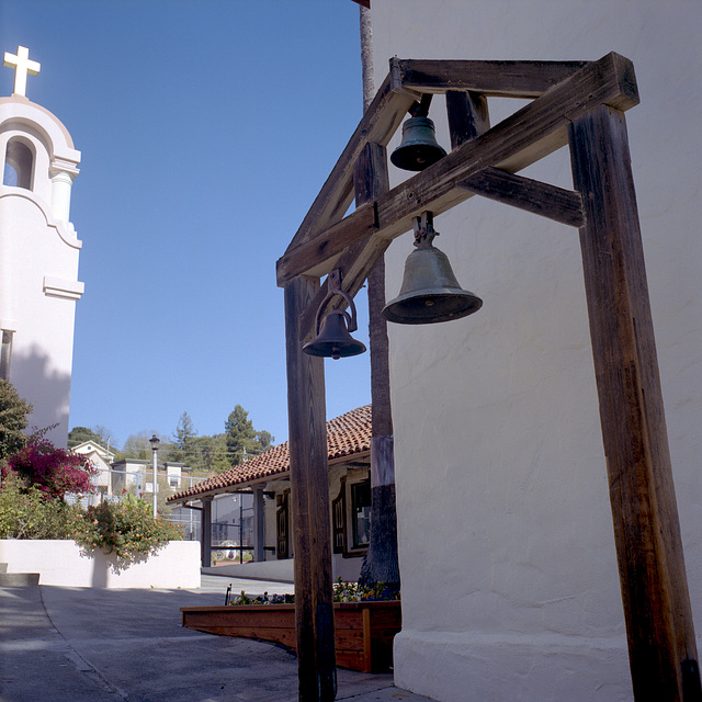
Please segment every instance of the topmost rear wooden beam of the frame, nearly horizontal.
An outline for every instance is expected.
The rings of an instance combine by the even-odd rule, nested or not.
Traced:
[[[472,90],[502,98],[537,98],[589,61],[475,61],[390,59],[395,90],[444,93]]]

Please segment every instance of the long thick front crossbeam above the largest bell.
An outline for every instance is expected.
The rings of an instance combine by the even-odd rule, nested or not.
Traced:
[[[609,104],[627,110],[638,103],[634,67],[619,54],[608,54],[587,64],[569,79],[507,117],[488,132],[462,144],[440,161],[404,181],[376,203],[378,231],[366,246],[377,246],[371,239],[392,240],[411,229],[414,217],[431,210],[440,215],[473,196],[461,184],[488,167],[509,172],[519,171],[567,144],[567,126],[599,105]],[[366,205],[367,206],[367,205]],[[338,241],[319,231],[308,239],[324,242],[327,261],[338,257],[344,248],[367,237],[363,215],[347,217],[343,237]],[[305,256],[288,248],[285,276],[279,285],[303,274],[310,265]],[[315,261],[317,272],[321,257]],[[366,257],[359,275],[365,278],[377,256]],[[325,271],[326,272],[326,271]]]

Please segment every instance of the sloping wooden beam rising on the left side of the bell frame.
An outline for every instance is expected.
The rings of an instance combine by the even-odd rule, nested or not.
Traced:
[[[353,163],[367,141],[387,146],[417,99],[414,93],[393,90],[387,76],[370,107],[341,152],[299,229],[287,248],[299,246],[318,231],[336,224],[353,202]],[[287,252],[286,251],[286,252]]]

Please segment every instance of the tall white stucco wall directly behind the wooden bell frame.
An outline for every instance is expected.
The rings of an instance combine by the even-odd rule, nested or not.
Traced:
[[[387,59],[631,58],[626,113],[673,476],[702,633],[702,13],[655,0],[373,0]],[[490,101],[491,121],[511,112]],[[449,146],[443,100],[430,116]],[[399,135],[388,151],[399,143]],[[408,174],[390,167],[397,183]],[[524,174],[571,188],[567,149]],[[483,309],[390,325],[403,632],[395,676],[444,702],[631,700],[575,229],[474,197],[435,244]],[[411,236],[387,254],[399,290]]]

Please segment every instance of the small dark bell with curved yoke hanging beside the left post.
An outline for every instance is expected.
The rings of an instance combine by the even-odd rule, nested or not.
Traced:
[[[315,326],[317,338],[303,346],[303,351],[309,355],[324,356],[339,360],[351,355],[359,355],[365,351],[365,344],[351,336],[359,328],[355,318],[355,305],[351,296],[341,290],[341,271],[332,270],[328,278],[329,292],[321,301],[317,310]],[[343,297],[351,314],[343,309],[331,309],[324,317],[321,313],[326,304],[335,296]]]

